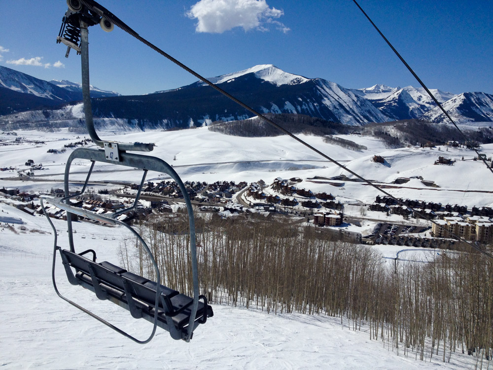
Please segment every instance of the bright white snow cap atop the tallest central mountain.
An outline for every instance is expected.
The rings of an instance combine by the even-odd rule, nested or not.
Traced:
[[[277,86],[298,85],[309,80],[309,78],[299,76],[297,74],[284,72],[272,64],[260,64],[243,71],[211,77],[209,80],[213,83],[223,83],[250,73],[255,74],[257,78],[268,81]]]

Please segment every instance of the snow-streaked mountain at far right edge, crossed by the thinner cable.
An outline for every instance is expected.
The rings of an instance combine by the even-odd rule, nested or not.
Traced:
[[[491,94],[465,92],[446,101],[442,106],[456,123],[493,121],[493,95]],[[432,122],[448,121],[438,107],[426,112],[423,118]]]

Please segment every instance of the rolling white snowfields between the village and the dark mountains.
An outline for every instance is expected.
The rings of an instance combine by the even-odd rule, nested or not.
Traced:
[[[0,173],[1,185],[18,187],[21,191],[32,188],[50,189],[61,187],[65,162],[70,151],[65,153],[47,153],[47,150],[60,149],[64,145],[81,140],[83,137],[69,132],[40,133],[35,131],[19,131],[19,136],[28,140],[43,140],[45,144],[20,144],[0,147],[0,166],[16,167],[26,170],[25,162],[33,159],[41,163],[44,170],[35,171],[35,178],[52,182],[33,183],[30,181],[9,181],[8,177],[17,177],[17,171]],[[107,140],[121,142],[154,142],[156,148],[151,152],[159,158],[172,164],[176,172],[184,180],[206,181],[246,181],[259,179],[270,184],[275,178],[291,178],[293,176],[309,179],[315,176],[333,177],[348,173],[332,162],[324,160],[303,145],[287,136],[274,138],[240,138],[222,135],[207,130],[198,129],[171,131],[128,133],[104,136]],[[386,191],[394,196],[425,201],[441,202],[443,204],[476,206],[493,205],[493,188],[486,166],[481,161],[473,161],[476,153],[466,148],[400,148],[388,149],[374,138],[356,135],[342,135],[368,149],[353,151],[333,144],[327,144],[316,136],[300,135],[303,140],[323,151],[331,158],[341,161],[352,171],[361,176],[379,182],[392,183],[399,177],[411,178],[407,184]],[[0,135],[0,139],[12,140],[11,136]],[[493,145],[482,146],[482,152],[487,157],[493,156]],[[375,163],[371,158],[381,155],[386,163]],[[456,160],[453,166],[433,165],[439,156]],[[464,158],[464,160],[462,160]],[[71,179],[84,180],[89,168],[88,161],[76,161],[72,164],[75,173]],[[77,175],[79,173],[79,175]],[[439,187],[429,187],[418,178],[433,181]],[[351,178],[352,175],[349,175]],[[95,167],[93,180],[138,182],[141,171],[121,168],[116,165],[101,164]],[[165,180],[166,175],[150,173],[148,180]],[[307,185],[305,185],[307,184]],[[361,183],[346,182],[342,187],[327,184],[303,182],[314,191],[331,192],[337,197],[357,199],[372,203],[379,192]]]

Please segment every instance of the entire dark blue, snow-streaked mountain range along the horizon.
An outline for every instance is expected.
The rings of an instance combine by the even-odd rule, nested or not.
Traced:
[[[321,78],[306,78],[286,73],[273,65],[224,74],[210,79],[239,100],[262,113],[298,113],[349,125],[369,122],[421,118],[444,122],[422,88],[392,88],[375,85],[365,89],[347,89]],[[460,122],[492,121],[493,95],[467,92],[459,95],[431,90],[455,119]],[[81,100],[81,86],[70,81],[42,81],[0,66],[0,114],[42,107],[43,114],[26,113],[25,119],[41,117],[49,121],[79,119],[80,109],[57,106]],[[245,119],[252,114],[199,81],[191,85],[147,95],[121,96],[116,92],[91,88],[93,112],[111,125],[125,122],[132,127],[185,128],[212,121]],[[53,111],[53,112],[51,112]],[[56,112],[55,112],[56,111]],[[16,114],[17,119],[23,115]],[[44,117],[44,118],[42,118]],[[0,117],[1,122],[12,121]],[[78,122],[80,124],[80,122]]]

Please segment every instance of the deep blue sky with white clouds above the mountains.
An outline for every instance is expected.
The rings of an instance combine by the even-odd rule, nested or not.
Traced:
[[[199,74],[274,64],[347,88],[418,87],[351,0],[100,0]],[[429,88],[493,93],[493,1],[359,0]],[[240,6],[243,5],[243,6]],[[65,0],[1,0],[0,65],[79,82],[80,56],[56,44]],[[115,28],[89,29],[91,84],[124,95],[196,78]]]

